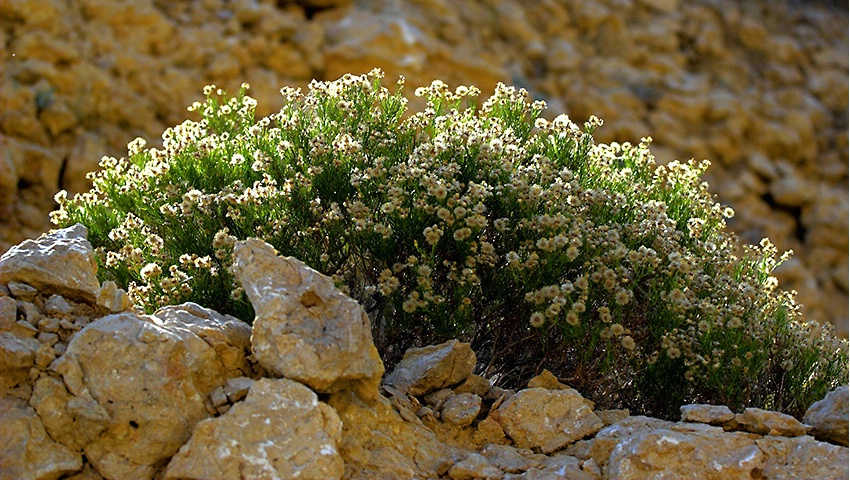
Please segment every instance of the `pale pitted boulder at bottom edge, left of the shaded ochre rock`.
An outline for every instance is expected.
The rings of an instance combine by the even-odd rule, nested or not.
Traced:
[[[243,402],[195,426],[164,478],[342,478],[341,432],[336,412],[309,388],[260,379]]]

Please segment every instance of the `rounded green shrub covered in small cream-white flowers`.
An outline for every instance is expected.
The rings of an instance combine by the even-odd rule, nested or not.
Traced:
[[[686,402],[800,416],[847,383],[847,343],[801,321],[770,275],[785,256],[724,231],[708,162],[596,144],[598,119],[547,121],[501,84],[477,107],[477,89],[435,81],[405,118],[403,79],[380,80],[284,88],[260,120],[247,86],[207,87],[201,121],[104,158],[52,219],[88,227],[99,275],[138,307],[246,322],[232,246],[261,238],[357,299],[388,363],[460,337],[502,384],[549,368],[603,407],[666,417]]]

